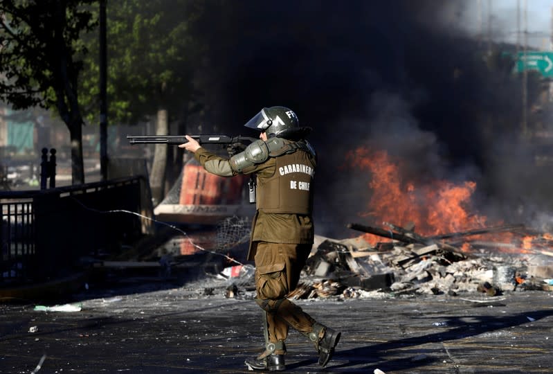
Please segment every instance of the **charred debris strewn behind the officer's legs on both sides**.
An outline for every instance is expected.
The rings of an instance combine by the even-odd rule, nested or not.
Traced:
[[[289,298],[468,293],[487,297],[523,290],[553,290],[553,235],[523,225],[435,236],[416,233],[413,224],[383,222],[382,227],[374,227],[350,223],[347,227],[361,234],[344,240],[316,235],[300,283]],[[375,242],[375,238],[381,241]],[[227,253],[240,258],[245,248],[242,245],[239,251]],[[203,296],[220,294],[221,287],[228,298],[255,293],[253,264],[223,264],[212,251],[192,256],[159,254],[158,261],[104,261],[98,265],[102,269],[125,269],[127,275],[129,270],[135,270],[134,279],[141,282],[167,280],[179,271],[191,274],[194,270],[197,274],[193,282],[185,287],[192,285],[197,288],[194,294]],[[149,277],[140,276],[145,271],[149,271]]]

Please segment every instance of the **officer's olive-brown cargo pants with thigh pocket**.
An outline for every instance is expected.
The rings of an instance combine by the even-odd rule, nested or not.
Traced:
[[[298,285],[311,244],[255,244],[255,302],[266,312],[269,342],[284,343],[290,326],[303,335],[309,335],[316,321],[286,296]],[[284,354],[285,350],[284,347],[274,353]]]

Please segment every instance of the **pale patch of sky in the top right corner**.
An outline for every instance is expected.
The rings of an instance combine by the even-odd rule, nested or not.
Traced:
[[[552,0],[469,0],[468,3],[469,8],[462,18],[471,33],[478,33],[480,29],[483,29],[484,34],[488,33],[491,9],[491,30],[493,30],[494,39],[511,43],[516,43],[518,4],[520,5],[520,29],[525,29],[523,10],[526,4],[528,45],[540,50],[551,48]],[[520,43],[523,43],[523,40],[521,35]]]

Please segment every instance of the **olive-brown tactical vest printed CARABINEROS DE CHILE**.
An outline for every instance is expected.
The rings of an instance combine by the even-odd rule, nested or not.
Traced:
[[[316,164],[314,155],[296,150],[276,156],[275,161],[273,177],[257,177],[257,209],[264,213],[311,215]]]

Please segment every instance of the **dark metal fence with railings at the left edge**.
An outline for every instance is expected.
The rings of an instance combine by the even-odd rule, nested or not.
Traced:
[[[73,273],[142,233],[143,177],[51,190],[0,192],[0,287]]]

